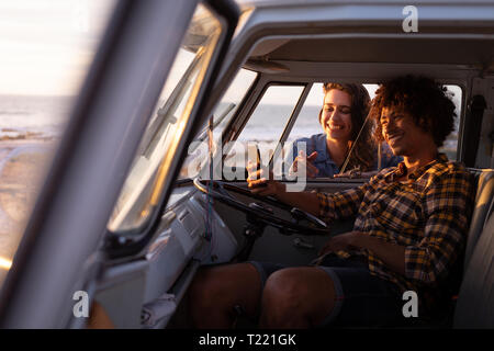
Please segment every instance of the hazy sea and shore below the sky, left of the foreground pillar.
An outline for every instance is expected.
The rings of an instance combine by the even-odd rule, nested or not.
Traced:
[[[74,97],[0,94],[0,259],[11,260]]]

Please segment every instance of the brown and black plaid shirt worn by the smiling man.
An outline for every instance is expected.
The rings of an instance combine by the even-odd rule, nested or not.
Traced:
[[[391,281],[402,293],[417,292],[427,312],[444,296],[442,283],[464,250],[473,180],[461,163],[448,162],[444,154],[406,173],[401,162],[362,186],[319,193],[319,215],[329,222],[357,215],[353,230],[404,246],[405,275],[392,271],[367,249],[334,254],[364,259],[371,274]],[[405,181],[395,180],[403,176],[407,176]]]

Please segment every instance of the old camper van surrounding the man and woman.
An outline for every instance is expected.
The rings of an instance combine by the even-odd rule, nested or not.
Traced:
[[[360,83],[372,98],[405,75],[448,90],[457,121],[441,151],[475,179],[451,309],[408,327],[493,328],[487,0],[117,1],[2,268],[1,327],[86,328],[98,313],[97,327],[188,328],[184,301],[201,267],[307,264],[353,220],[328,225],[252,194],[248,160],[294,191],[364,184],[355,172],[302,181],[287,150],[321,133],[324,82]]]

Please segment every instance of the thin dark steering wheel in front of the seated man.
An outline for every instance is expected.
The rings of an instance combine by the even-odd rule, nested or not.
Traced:
[[[211,195],[213,199],[218,200],[231,207],[244,212],[247,215],[247,220],[272,226],[283,235],[327,235],[329,233],[328,226],[323,220],[300,208],[282,203],[272,196],[260,196],[252,194],[247,189],[223,181],[200,180],[199,178],[195,178],[193,183],[194,186],[201,192]],[[235,199],[229,192],[250,197],[254,201],[246,205]],[[261,203],[255,201],[259,201]],[[293,219],[290,222],[276,216],[272,208],[266,206],[263,203],[289,212]],[[300,222],[303,219],[307,220],[308,224],[301,224]]]

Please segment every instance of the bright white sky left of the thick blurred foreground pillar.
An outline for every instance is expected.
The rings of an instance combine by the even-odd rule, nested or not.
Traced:
[[[0,94],[76,94],[114,3],[1,0]]]

